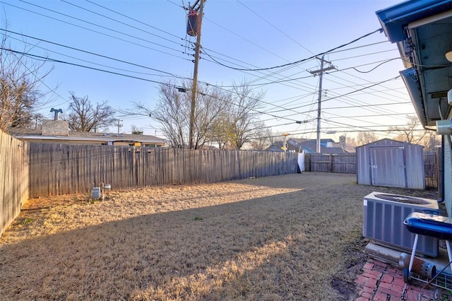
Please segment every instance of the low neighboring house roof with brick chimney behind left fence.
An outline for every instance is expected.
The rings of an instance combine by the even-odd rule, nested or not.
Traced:
[[[11,136],[38,143],[78,143],[126,146],[165,146],[165,140],[155,136],[69,131],[64,120],[43,120],[42,129],[11,129]]]

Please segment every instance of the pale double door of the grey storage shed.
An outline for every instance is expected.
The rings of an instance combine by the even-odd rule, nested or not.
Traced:
[[[370,148],[371,184],[407,187],[404,148]]]

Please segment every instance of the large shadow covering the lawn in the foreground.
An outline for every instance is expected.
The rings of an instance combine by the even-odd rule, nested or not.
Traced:
[[[3,244],[0,291],[6,300],[343,300],[331,281],[375,187],[308,186]]]

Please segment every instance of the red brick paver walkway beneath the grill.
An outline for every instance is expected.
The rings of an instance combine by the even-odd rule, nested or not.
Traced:
[[[355,283],[359,294],[357,301],[449,300],[444,296],[438,299],[439,289],[436,287],[424,289],[424,283],[405,283],[402,268],[394,268],[374,259],[364,264],[363,273],[357,276]]]

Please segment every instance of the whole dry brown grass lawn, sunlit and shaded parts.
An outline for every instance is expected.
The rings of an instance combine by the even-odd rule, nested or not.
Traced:
[[[355,175],[32,199],[0,239],[3,300],[347,300],[364,264]]]

